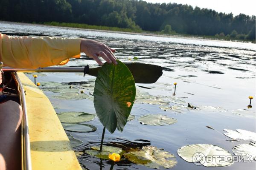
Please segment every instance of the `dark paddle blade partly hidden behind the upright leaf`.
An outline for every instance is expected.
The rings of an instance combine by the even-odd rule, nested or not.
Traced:
[[[144,63],[125,63],[125,65],[131,71],[135,83],[154,83],[163,74],[163,68],[159,65]],[[97,77],[100,68],[90,68],[87,74]]]

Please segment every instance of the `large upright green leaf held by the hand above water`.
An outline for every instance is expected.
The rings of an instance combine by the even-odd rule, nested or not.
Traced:
[[[104,127],[110,133],[116,128],[122,132],[134,104],[134,78],[125,64],[107,62],[100,69],[94,87],[94,108]]]

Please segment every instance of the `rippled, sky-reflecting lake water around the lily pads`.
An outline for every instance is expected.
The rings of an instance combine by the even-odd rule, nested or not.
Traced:
[[[218,170],[254,170],[255,162],[234,163],[227,167],[204,167],[186,162],[177,155],[177,150],[187,144],[214,144],[225,148],[231,154],[237,144],[250,143],[249,141],[229,142],[223,135],[224,129],[244,129],[255,132],[255,92],[256,92],[256,45],[241,42],[217,40],[203,40],[180,37],[156,37],[140,34],[121,34],[104,31],[89,31],[75,28],[59,28],[31,24],[0,22],[0,32],[8,35],[29,36],[62,36],[83,37],[103,42],[116,49],[116,57],[122,62],[141,62],[160,65],[163,67],[163,76],[154,84],[136,84],[151,89],[136,86],[137,94],[147,94],[150,99],[136,100],[131,114],[135,119],[128,122],[122,133],[116,131],[111,134],[106,130],[105,144],[114,146],[115,143],[125,146],[152,145],[172,153],[177,164],[172,170],[188,169],[218,169]],[[138,57],[138,60],[134,60]],[[71,59],[65,66],[96,67],[94,60],[84,54],[80,59]],[[32,74],[27,74],[33,79]],[[93,107],[93,85],[95,77],[82,74],[45,73],[38,74],[38,82],[59,82],[61,85],[76,86],[88,95],[87,99],[64,99],[60,95],[42,90],[49,97],[57,113],[64,111],[82,111],[95,113]],[[173,83],[177,82],[176,96]],[[47,83],[46,83],[47,84]],[[252,108],[248,96],[253,96]],[[154,98],[155,97],[155,98]],[[158,99],[156,102],[152,100]],[[160,109],[160,99],[164,99],[162,106],[187,106],[188,103],[196,107],[212,106],[208,109],[183,109],[182,113],[169,109]],[[177,101],[178,100],[178,101]],[[167,101],[167,104],[166,104]],[[157,103],[158,102],[158,103]],[[158,104],[158,105],[157,105]],[[220,107],[220,108],[218,108]],[[202,107],[204,108],[204,107]],[[216,109],[218,108],[218,109]],[[247,109],[250,115],[235,114],[237,109]],[[248,113],[249,113],[248,112]],[[146,114],[163,114],[174,119],[177,123],[166,126],[141,125],[140,116]],[[91,146],[99,145],[102,136],[102,125],[96,117],[93,121],[85,122],[97,128],[90,133],[67,133],[82,141],[74,147],[75,151],[84,151]],[[215,130],[209,129],[210,126]],[[84,169],[109,170],[111,161],[100,160],[83,153],[79,162]],[[114,166],[116,170],[149,170],[151,168],[122,160]]]

